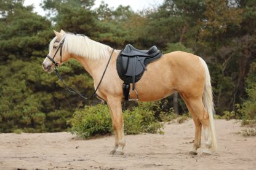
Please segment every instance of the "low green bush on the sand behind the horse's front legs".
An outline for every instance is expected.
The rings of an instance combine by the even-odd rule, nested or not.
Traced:
[[[126,134],[163,133],[162,123],[154,118],[151,107],[154,104],[140,103],[138,107],[123,112],[124,132]],[[79,137],[92,137],[96,135],[112,134],[112,122],[108,106],[97,104],[86,106],[74,113],[70,120],[71,133]]]

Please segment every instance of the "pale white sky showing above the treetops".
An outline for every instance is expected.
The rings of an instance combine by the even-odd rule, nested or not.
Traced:
[[[104,0],[108,6],[116,9],[119,5],[130,6],[132,10],[142,10],[147,8],[153,8],[162,4],[164,0]],[[29,6],[33,4],[34,12],[37,12],[39,15],[46,15],[46,12],[39,6],[42,0],[25,0],[24,5]],[[96,0],[94,8],[100,6],[102,0]]]

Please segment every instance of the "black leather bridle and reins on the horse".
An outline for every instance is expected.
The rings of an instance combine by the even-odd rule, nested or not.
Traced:
[[[58,45],[58,48],[57,48],[56,52],[54,53],[54,57],[51,58],[49,55],[47,55],[47,58],[49,58],[50,61],[52,61],[52,63],[54,63],[55,74],[57,75],[58,79],[63,83],[63,85],[65,86],[65,89],[66,89],[66,90],[70,91],[71,93],[77,94],[78,96],[80,96],[80,97],[83,98],[83,99],[90,99],[90,98],[92,98],[94,95],[96,95],[96,92],[97,92],[97,90],[98,90],[98,87],[100,87],[100,83],[102,83],[102,79],[103,79],[103,77],[104,77],[104,75],[105,75],[105,73],[106,73],[106,69],[108,68],[108,65],[110,64],[110,60],[111,60],[111,57],[112,57],[112,55],[113,55],[114,48],[113,48],[113,50],[112,50],[112,52],[111,52],[110,59],[108,60],[108,63],[106,64],[106,68],[105,68],[105,70],[104,70],[104,72],[103,72],[103,74],[102,74],[102,78],[100,79],[100,82],[98,83],[97,88],[94,90],[94,93],[92,93],[92,95],[86,96],[86,95],[84,95],[84,94],[79,93],[77,90],[74,90],[74,88],[68,87],[68,85],[66,85],[66,83],[65,83],[64,80],[62,79],[62,76],[60,75],[60,72],[58,72],[58,66],[59,66],[60,64],[57,63],[57,62],[54,60],[54,58],[55,58],[55,56],[56,56],[58,50],[60,50],[60,63],[62,63],[62,47],[63,47],[64,41],[65,41],[65,37],[63,37],[62,41],[60,41],[60,44]]]

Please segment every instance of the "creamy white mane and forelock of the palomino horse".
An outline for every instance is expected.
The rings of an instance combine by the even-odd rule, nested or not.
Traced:
[[[50,42],[50,49],[53,48],[56,39],[57,37]],[[108,58],[111,47],[101,44],[100,42],[93,41],[84,35],[66,33],[63,50],[74,55],[97,60],[101,58]]]

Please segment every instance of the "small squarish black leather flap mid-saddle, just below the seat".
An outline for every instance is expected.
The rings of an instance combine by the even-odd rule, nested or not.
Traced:
[[[139,60],[141,60],[141,61],[139,61]],[[129,58],[129,64],[128,64],[127,72],[126,72],[125,75],[134,76],[134,74],[135,74],[135,76],[136,76],[136,75],[142,74],[142,72],[144,71],[144,66],[142,65],[142,63],[144,63],[144,61],[145,61],[145,57],[143,57],[143,58],[142,57],[141,58],[137,58],[137,57]]]

